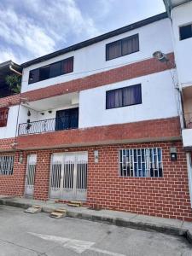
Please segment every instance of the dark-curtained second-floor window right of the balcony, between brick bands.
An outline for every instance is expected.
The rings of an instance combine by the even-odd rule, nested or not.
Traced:
[[[141,84],[131,85],[106,92],[106,109],[120,108],[142,103]]]

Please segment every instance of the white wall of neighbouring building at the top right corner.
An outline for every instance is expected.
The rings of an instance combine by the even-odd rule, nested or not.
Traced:
[[[180,84],[192,85],[192,38],[180,41],[179,26],[192,24],[192,2],[172,9],[173,44]]]

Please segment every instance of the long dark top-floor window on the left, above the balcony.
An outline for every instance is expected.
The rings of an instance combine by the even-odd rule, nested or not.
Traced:
[[[73,72],[73,57],[63,61],[57,61],[50,65],[33,69],[29,73],[29,84],[46,79],[52,79],[65,73]]]

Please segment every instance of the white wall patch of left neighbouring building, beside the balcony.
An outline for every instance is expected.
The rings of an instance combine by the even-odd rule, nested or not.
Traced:
[[[0,127],[0,139],[15,137],[19,106],[9,107],[7,126]]]

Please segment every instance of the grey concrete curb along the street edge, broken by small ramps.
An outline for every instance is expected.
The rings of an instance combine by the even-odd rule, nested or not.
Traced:
[[[9,207],[20,207],[23,209],[27,209],[28,207],[32,207],[32,204],[21,203],[10,201],[9,199],[0,199],[0,205],[6,205]],[[55,209],[55,207],[43,207],[42,212],[50,213]],[[189,243],[192,244],[192,232],[188,229],[183,229],[182,227],[175,227],[167,224],[154,224],[150,222],[142,222],[134,219],[125,219],[125,218],[112,218],[108,216],[98,216],[95,214],[89,214],[84,212],[70,212],[67,210],[67,217],[69,218],[80,218],[95,222],[102,222],[106,224],[114,224],[119,227],[127,227],[136,230],[150,230],[157,231],[160,233],[170,234],[174,236],[184,236]]]

